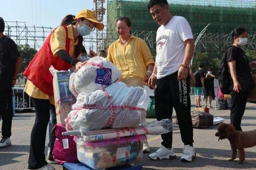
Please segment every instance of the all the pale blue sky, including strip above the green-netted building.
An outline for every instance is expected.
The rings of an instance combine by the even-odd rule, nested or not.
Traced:
[[[68,14],[76,15],[80,10],[93,10],[94,0],[2,0],[0,16],[5,21],[9,22],[8,26],[13,26],[10,32],[13,39],[17,39],[19,44],[28,43],[31,47],[39,49],[44,42],[44,39],[52,31],[52,28],[59,26],[64,16]],[[104,8],[107,8],[105,0]],[[148,0],[118,0],[118,1],[133,1],[133,2],[148,2]],[[168,0],[170,4],[184,5],[200,5],[200,6],[232,6],[239,8],[255,7],[256,0]],[[130,3],[130,2],[129,2]],[[132,3],[130,3],[132,4]],[[145,5],[146,8],[146,5]],[[148,10],[146,11],[147,13]],[[140,12],[139,12],[140,13]],[[107,14],[107,13],[106,13]],[[103,24],[106,26],[106,16],[104,15]],[[145,13],[146,14],[146,13]],[[140,14],[141,15],[141,14]],[[133,19],[133,18],[132,18]],[[116,20],[116,18],[114,19]],[[154,22],[150,18],[151,22]],[[15,22],[18,23],[18,26]],[[26,22],[26,29],[24,23]],[[113,22],[114,23],[114,22]],[[38,28],[33,28],[33,26]],[[42,28],[44,27],[44,28]],[[46,28],[51,27],[51,28]],[[8,27],[9,28],[9,27]],[[43,30],[43,31],[42,31]],[[27,31],[27,32],[26,32]],[[151,31],[151,30],[150,30]],[[7,32],[7,29],[6,29]],[[6,32],[4,32],[6,34]],[[20,33],[22,32],[22,33]],[[103,31],[106,37],[106,27]],[[108,35],[110,33],[108,32]],[[6,34],[7,35],[7,34]],[[116,35],[115,28],[113,35]],[[27,38],[28,37],[28,38]],[[38,38],[39,37],[39,38]],[[31,39],[31,40],[28,40]],[[35,40],[36,39],[36,43]],[[116,40],[116,39],[115,39]],[[88,36],[84,36],[84,46],[86,49],[96,49],[96,31]]]

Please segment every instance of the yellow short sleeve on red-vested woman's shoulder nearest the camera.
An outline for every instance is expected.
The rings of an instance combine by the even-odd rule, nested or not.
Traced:
[[[54,56],[56,52],[63,49],[66,50],[66,30],[63,27],[58,27],[52,33],[50,39],[51,50]]]

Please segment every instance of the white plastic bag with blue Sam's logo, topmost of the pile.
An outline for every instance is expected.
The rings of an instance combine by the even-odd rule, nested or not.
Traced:
[[[81,92],[104,89],[121,77],[118,68],[104,57],[92,57],[70,76],[70,91],[77,97]]]

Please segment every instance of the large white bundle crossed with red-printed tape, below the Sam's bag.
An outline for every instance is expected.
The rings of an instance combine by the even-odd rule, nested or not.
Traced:
[[[103,90],[80,93],[66,119],[66,130],[135,127],[146,121],[150,98],[141,87],[112,83]]]

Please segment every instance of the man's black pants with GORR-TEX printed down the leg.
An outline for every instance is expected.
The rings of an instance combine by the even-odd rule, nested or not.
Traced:
[[[190,144],[193,140],[193,127],[190,115],[190,77],[186,80],[177,80],[178,71],[156,81],[155,108],[156,118],[172,119],[174,107],[180,126],[180,134],[184,144]],[[172,132],[162,134],[162,145],[172,147]]]

